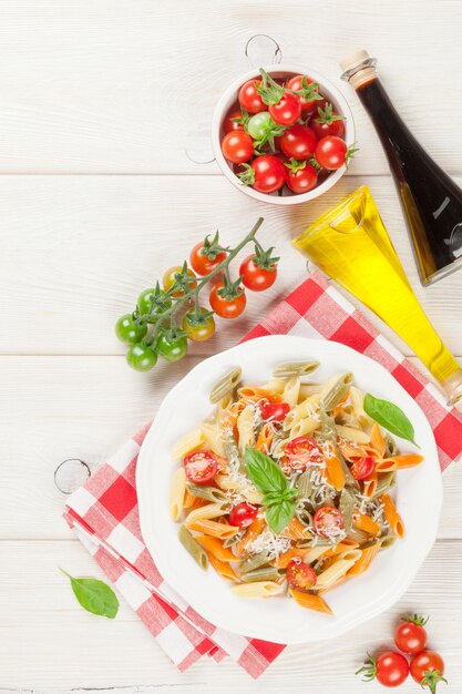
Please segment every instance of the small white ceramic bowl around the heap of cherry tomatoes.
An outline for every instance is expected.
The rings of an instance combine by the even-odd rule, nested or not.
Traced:
[[[345,118],[345,141],[348,146],[353,144],[355,142],[355,123],[353,116],[350,110],[350,106],[347,103],[347,100],[342,95],[342,93],[329,82],[325,76],[319,74],[309,68],[292,65],[283,63],[280,65],[269,65],[264,68],[271,78],[286,76],[288,74],[307,74],[312,78],[319,84],[319,91],[322,93],[326,99],[332,103],[333,110]],[[300,203],[306,203],[309,200],[315,200],[322,193],[326,193],[329,188],[332,187],[341,178],[341,176],[346,172],[346,166],[341,166],[337,171],[333,171],[320,185],[318,185],[312,191],[308,191],[308,193],[302,193],[300,195],[287,194],[279,196],[277,193],[273,193],[268,195],[266,193],[259,193],[255,188],[249,185],[243,185],[236,174],[233,172],[232,165],[227,162],[227,160],[223,156],[222,152],[222,140],[225,135],[223,130],[223,121],[228,113],[230,106],[237,102],[237,95],[240,86],[247,82],[248,80],[259,78],[260,73],[258,70],[251,70],[250,72],[246,72],[240,78],[235,80],[224,94],[222,94],[218,103],[215,106],[214,116],[212,121],[212,145],[214,149],[215,159],[220,167],[222,172],[225,176],[235,185],[239,191],[243,191],[246,195],[254,197],[254,200],[258,200],[263,203],[273,203],[275,205],[298,205]]]

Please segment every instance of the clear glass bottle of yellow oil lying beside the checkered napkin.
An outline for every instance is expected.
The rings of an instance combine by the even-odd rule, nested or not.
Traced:
[[[294,239],[329,277],[389,325],[462,407],[462,368],[420,306],[367,186]]]

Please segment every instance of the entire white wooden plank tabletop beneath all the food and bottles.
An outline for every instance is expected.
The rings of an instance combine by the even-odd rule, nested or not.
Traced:
[[[403,599],[346,639],[288,649],[257,683],[229,660],[179,674],[125,604],[115,621],[81,610],[58,567],[101,572],[62,521],[53,484],[61,460],[102,461],[183,374],[301,280],[290,238],[363,183],[430,318],[462,355],[462,273],[419,286],[380,145],[337,65],[358,48],[378,55],[398,109],[462,182],[461,0],[0,0],[0,691],[374,692],[352,673],[412,610],[430,613],[448,692],[462,692],[460,468],[445,473],[438,542]],[[259,32],[340,85],[361,146],[335,190],[291,211],[250,201],[184,152]],[[177,367],[131,371],[115,318],[205,234],[237,242],[259,215],[283,256],[277,286]]]

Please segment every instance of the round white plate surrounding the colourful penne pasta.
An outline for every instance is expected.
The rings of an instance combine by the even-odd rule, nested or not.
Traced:
[[[314,379],[352,371],[356,382],[391,400],[408,415],[424,461],[398,476],[394,488],[405,537],[380,552],[370,570],[328,595],[335,616],[304,610],[285,596],[236,598],[229,584],[209,568],[203,571],[177,539],[168,513],[171,480],[179,461],[172,457],[177,439],[211,411],[208,395],[218,378],[240,366],[244,382],[258,384],[285,361],[318,359]],[[417,450],[398,439],[402,450]],[[202,361],[164,399],[140,451],[136,468],[140,522],[144,541],[161,574],[206,620],[222,629],[278,643],[331,639],[379,614],[405,591],[430,551],[442,502],[441,472],[430,425],[398,381],[368,357],[330,343],[289,335],[253,339]]]

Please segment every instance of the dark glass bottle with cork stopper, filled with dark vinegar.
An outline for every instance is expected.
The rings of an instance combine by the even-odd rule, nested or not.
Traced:
[[[386,151],[423,285],[462,267],[462,191],[429,156],[397,113],[366,51],[341,61]]]

